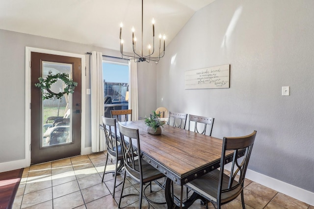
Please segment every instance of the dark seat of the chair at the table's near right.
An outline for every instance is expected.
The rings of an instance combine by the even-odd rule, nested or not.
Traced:
[[[201,176],[189,183],[185,186],[191,188],[196,193],[204,196],[210,200],[217,202],[217,188],[219,182],[220,171],[218,169],[209,172],[208,174]],[[228,186],[229,176],[223,175],[223,184],[222,188],[226,189]],[[238,185],[238,182],[234,180],[233,186]],[[226,191],[221,193],[221,203],[227,203],[231,200],[235,199],[242,191],[242,187],[240,185],[237,186],[236,189],[231,191]]]

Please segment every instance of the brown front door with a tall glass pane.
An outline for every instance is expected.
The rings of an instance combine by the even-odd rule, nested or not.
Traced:
[[[35,84],[38,78],[66,73],[77,82],[74,93],[44,99]],[[64,92],[62,79],[51,82],[50,91]],[[81,59],[31,52],[31,164],[80,155]]]

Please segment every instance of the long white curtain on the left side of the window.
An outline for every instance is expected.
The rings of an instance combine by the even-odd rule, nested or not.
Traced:
[[[92,51],[90,60],[92,152],[106,149],[104,131],[99,128],[104,109],[103,54]]]

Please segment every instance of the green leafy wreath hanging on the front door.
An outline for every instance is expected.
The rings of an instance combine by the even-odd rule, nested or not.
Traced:
[[[54,93],[50,90],[50,87],[53,83],[55,83],[58,79],[62,80],[65,83],[65,88],[63,92]],[[69,79],[69,75],[67,73],[57,73],[55,75],[48,75],[46,79],[40,77],[38,78],[39,83],[36,83],[35,86],[39,87],[41,92],[43,93],[43,99],[59,99],[63,96],[63,94],[74,93],[74,89],[78,86],[77,82],[74,82],[72,79]]]

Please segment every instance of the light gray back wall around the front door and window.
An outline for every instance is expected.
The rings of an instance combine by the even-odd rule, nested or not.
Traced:
[[[7,166],[18,169],[25,158],[25,47],[85,55],[86,88],[90,88],[90,55],[101,51],[105,55],[120,56],[113,51],[96,46],[61,41],[0,29],[0,172]],[[84,69],[84,67],[82,68]],[[156,109],[156,64],[139,63],[138,98],[139,116],[149,115]],[[85,73],[85,72],[83,72]],[[91,146],[90,95],[86,98],[85,147]]]

